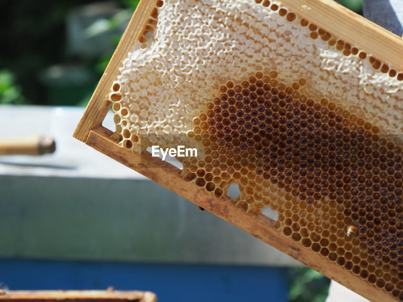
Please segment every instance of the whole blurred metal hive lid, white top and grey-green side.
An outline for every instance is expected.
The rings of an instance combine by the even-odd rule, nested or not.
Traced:
[[[0,136],[56,141],[53,154],[0,156],[0,258],[301,265],[74,139],[83,112],[0,106]]]

